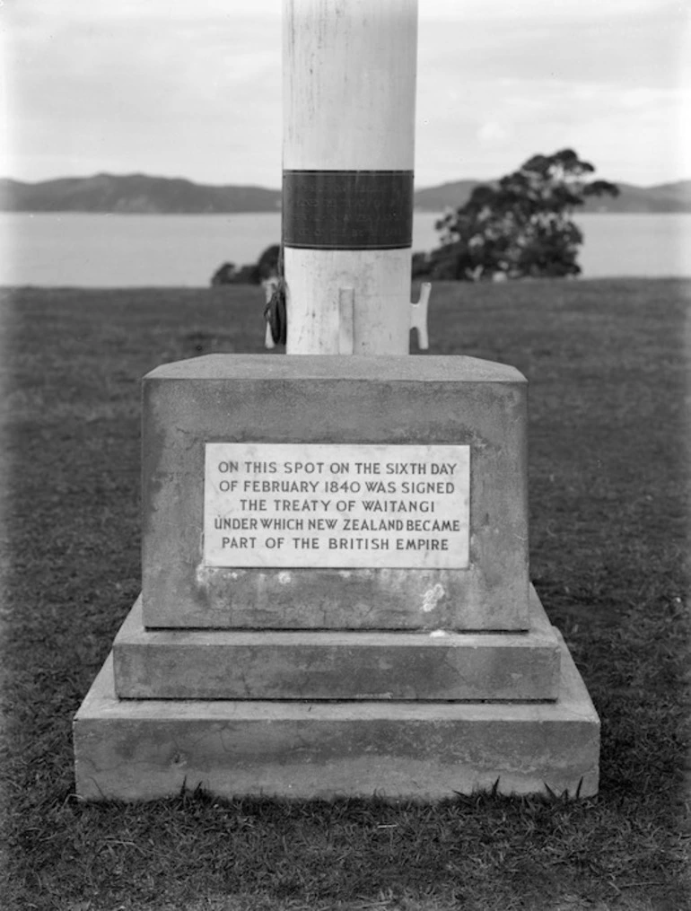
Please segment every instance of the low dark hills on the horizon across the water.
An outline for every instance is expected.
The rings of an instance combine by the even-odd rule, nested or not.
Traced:
[[[473,187],[489,181],[456,180],[415,192],[415,208],[442,212],[457,208]],[[589,200],[584,212],[691,212],[691,180],[655,187],[620,183],[615,199]],[[264,187],[210,186],[182,178],[146,174],[97,174],[39,183],[0,179],[0,211],[118,212],[129,214],[222,214],[275,212],[280,190]]]

